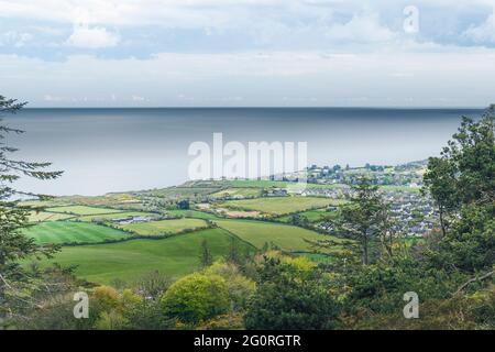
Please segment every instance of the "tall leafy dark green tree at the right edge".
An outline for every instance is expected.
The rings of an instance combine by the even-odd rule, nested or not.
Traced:
[[[430,255],[436,266],[465,273],[493,273],[494,118],[495,106],[490,107],[477,121],[463,117],[458,133],[442,150],[440,157],[429,158],[425,190],[439,207],[443,231],[438,250]],[[446,217],[449,219],[448,226]]]

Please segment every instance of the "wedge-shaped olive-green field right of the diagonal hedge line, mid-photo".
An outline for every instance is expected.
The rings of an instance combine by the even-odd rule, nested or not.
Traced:
[[[305,242],[305,239],[323,240],[330,238],[315,231],[282,223],[255,220],[218,220],[215,222],[257,249],[261,249],[266,242],[273,242],[284,250],[306,251],[309,249],[309,244]]]

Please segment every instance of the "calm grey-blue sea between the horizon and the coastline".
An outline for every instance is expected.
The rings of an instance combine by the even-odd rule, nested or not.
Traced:
[[[53,162],[54,182],[22,179],[24,190],[100,195],[187,180],[191,142],[308,142],[309,163],[400,164],[439,153],[460,117],[446,109],[25,109],[4,121],[18,158]]]

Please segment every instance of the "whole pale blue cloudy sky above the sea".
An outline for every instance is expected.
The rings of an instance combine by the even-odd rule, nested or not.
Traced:
[[[0,0],[30,107],[495,102],[495,0]]]

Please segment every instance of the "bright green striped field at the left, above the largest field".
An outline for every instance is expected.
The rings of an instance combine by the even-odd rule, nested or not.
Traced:
[[[87,222],[47,221],[24,230],[37,243],[98,243],[129,238],[130,234]]]

